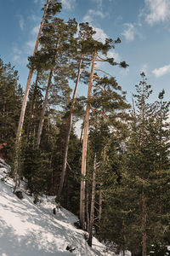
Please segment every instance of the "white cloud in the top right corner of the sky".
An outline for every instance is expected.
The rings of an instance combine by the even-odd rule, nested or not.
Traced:
[[[144,0],[149,14],[146,15],[146,22],[153,25],[160,21],[168,20],[170,17],[170,1],[169,0]]]

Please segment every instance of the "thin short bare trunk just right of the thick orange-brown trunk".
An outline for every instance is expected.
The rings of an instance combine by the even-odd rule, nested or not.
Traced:
[[[92,247],[92,237],[93,237],[93,227],[94,227],[94,203],[95,203],[95,187],[96,187],[96,154],[94,156],[94,175],[93,175],[93,184],[92,184],[92,201],[90,209],[90,224],[89,224],[89,237],[88,245]]]

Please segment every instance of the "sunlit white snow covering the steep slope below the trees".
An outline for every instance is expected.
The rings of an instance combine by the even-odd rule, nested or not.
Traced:
[[[83,231],[73,225],[78,219],[71,212],[61,207],[54,215],[54,197],[43,196],[35,205],[23,192],[20,200],[13,194],[14,182],[6,177],[6,168],[0,168],[0,256],[115,255],[106,253],[95,238],[93,247],[88,247]],[[67,251],[68,246],[75,250]]]

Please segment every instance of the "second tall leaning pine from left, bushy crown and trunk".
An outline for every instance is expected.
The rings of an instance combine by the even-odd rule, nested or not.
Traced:
[[[32,65],[36,66],[37,69],[40,68],[43,70],[45,68],[45,70],[49,70],[48,86],[37,132],[37,146],[39,146],[41,140],[42,125],[48,104],[48,95],[51,87],[55,87],[53,78],[54,76],[58,76],[61,79],[62,76],[70,76],[71,70],[69,70],[68,49],[70,49],[69,43],[74,33],[77,32],[77,22],[74,19],[69,20],[66,24],[63,20],[55,18],[52,25],[49,24],[48,21],[45,23],[45,27],[42,30],[42,37],[40,38],[42,49],[37,52],[35,58],[30,58]]]

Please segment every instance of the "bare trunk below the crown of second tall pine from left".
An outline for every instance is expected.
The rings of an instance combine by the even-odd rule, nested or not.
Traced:
[[[52,80],[52,77],[53,77],[53,72],[54,72],[54,70],[51,69],[51,71],[49,73],[49,77],[48,77],[48,87],[47,87],[47,90],[46,90],[45,99],[44,99],[44,102],[43,102],[42,114],[41,114],[41,118],[40,118],[40,122],[39,122],[39,126],[38,126],[38,131],[37,131],[37,148],[39,148],[40,141],[41,141],[42,127],[43,127],[44,117],[45,117],[45,113],[46,113],[46,109],[47,109],[47,105],[48,105],[48,95],[49,95],[49,89],[50,89],[51,83],[52,83],[51,80]]]

